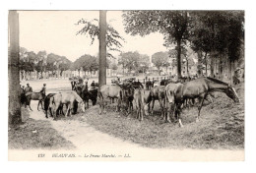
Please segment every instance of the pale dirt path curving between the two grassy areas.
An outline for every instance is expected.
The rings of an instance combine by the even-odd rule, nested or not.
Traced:
[[[33,111],[30,111],[32,119],[49,121],[56,131],[58,131],[66,140],[73,143],[78,149],[113,148],[116,145],[118,145],[120,149],[139,147],[137,144],[124,142],[96,131],[86,123],[83,116],[79,118],[80,120],[75,117],[76,115],[67,118],[63,117],[58,121],[53,121],[52,118],[46,119],[41,109],[39,109],[40,111],[36,110],[36,101],[32,101],[32,110]]]

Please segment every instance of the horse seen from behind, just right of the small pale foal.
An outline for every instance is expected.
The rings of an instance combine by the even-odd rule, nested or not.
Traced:
[[[155,100],[160,101],[160,109],[161,109],[161,117],[164,117],[164,104],[165,104],[165,87],[164,86],[156,86],[151,88],[151,96],[152,96],[152,114],[154,109]]]

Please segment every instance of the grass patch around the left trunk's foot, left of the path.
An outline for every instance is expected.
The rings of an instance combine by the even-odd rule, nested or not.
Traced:
[[[71,149],[74,144],[65,140],[46,120],[33,120],[22,108],[23,124],[8,130],[9,149]]]

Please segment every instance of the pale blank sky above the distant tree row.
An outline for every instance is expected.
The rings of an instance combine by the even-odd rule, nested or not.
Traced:
[[[139,51],[152,56],[159,51],[166,51],[161,33],[132,36],[124,31],[121,11],[107,11],[106,22],[116,29],[125,42],[121,51]],[[19,11],[20,45],[29,51],[37,53],[45,50],[66,56],[75,61],[84,54],[97,55],[98,41],[91,44],[91,38],[86,35],[76,35],[82,25],[75,25],[82,18],[91,21],[98,19],[98,11]],[[119,52],[113,53],[117,56]]]

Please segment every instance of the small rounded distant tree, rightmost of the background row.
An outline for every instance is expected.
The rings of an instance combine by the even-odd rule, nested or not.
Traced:
[[[152,55],[152,62],[159,69],[159,72],[161,67],[169,66],[168,59],[169,56],[166,52],[157,52]]]

